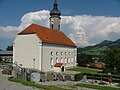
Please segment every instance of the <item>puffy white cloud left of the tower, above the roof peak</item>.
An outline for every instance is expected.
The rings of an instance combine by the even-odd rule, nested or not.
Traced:
[[[26,27],[32,23],[36,23],[45,27],[49,26],[49,11],[42,10],[38,12],[30,12],[25,14],[21,19],[21,26]]]

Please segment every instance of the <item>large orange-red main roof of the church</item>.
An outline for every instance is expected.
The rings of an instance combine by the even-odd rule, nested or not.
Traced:
[[[76,47],[76,45],[63,32],[52,30],[50,28],[46,28],[36,24],[30,25],[29,27],[21,31],[18,35],[24,34],[37,34],[40,40],[45,43]]]

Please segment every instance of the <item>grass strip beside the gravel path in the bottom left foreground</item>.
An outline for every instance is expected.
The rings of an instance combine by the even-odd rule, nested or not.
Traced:
[[[40,84],[36,84],[36,83],[25,81],[25,80],[21,80],[21,79],[9,79],[9,80],[12,81],[12,82],[22,83],[23,85],[32,86],[32,87],[36,87],[36,88],[39,88],[39,89],[45,89],[45,90],[67,90],[67,89],[54,87],[54,86],[40,85]]]

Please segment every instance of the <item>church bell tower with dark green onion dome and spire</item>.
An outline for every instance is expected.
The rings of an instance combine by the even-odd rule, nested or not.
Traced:
[[[53,10],[50,12],[50,28],[53,30],[60,31],[60,15],[61,12],[58,10],[57,0],[54,1]]]

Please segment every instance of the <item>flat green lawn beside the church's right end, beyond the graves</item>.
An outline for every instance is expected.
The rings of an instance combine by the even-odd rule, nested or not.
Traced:
[[[78,71],[78,72],[81,72],[81,73],[91,73],[91,74],[96,74],[96,73],[101,71],[99,69],[91,69],[91,68],[84,68],[84,67],[75,67],[75,68],[71,68],[71,69],[68,69],[68,70]]]

